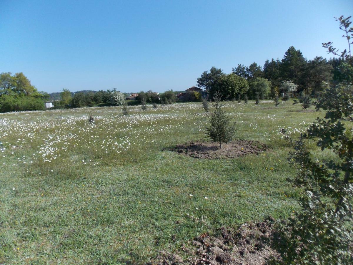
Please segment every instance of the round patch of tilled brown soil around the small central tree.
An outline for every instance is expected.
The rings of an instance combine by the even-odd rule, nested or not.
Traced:
[[[190,142],[184,145],[177,145],[169,151],[178,152],[193,158],[235,158],[248,154],[259,154],[267,147],[257,141],[235,140],[230,143],[223,143],[222,149],[216,142]]]

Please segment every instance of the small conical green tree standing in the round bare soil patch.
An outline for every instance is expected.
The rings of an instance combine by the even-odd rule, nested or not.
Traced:
[[[222,143],[231,141],[234,137],[234,125],[231,124],[231,118],[222,110],[224,105],[221,104],[221,94],[215,93],[214,103],[215,110],[210,114],[210,125],[206,127],[207,135],[215,142],[219,143],[220,149]]]

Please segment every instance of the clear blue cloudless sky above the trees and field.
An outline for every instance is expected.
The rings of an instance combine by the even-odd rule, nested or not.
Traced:
[[[40,91],[185,90],[211,66],[329,57],[347,47],[334,17],[352,0],[0,0],[0,72],[23,72]]]

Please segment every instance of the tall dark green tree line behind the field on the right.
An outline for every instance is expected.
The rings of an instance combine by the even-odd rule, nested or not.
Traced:
[[[315,95],[324,90],[324,82],[353,82],[353,71],[345,58],[315,57],[307,60],[301,51],[293,46],[285,52],[282,60],[266,60],[263,66],[252,63],[238,64],[232,73],[226,74],[220,68],[211,67],[197,78],[199,87],[208,90],[213,97],[217,91],[223,100],[233,100],[247,95],[255,99],[274,98],[279,93],[305,93]],[[296,85],[295,91],[288,91],[288,82]]]

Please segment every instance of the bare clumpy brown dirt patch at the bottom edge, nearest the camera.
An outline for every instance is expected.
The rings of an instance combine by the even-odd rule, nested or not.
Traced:
[[[257,224],[246,223],[237,230],[220,228],[219,236],[203,234],[194,238],[192,251],[184,247],[189,256],[183,260],[178,254],[162,253],[157,264],[266,264],[281,261],[280,254],[271,248],[275,234],[274,219],[269,217]]]

